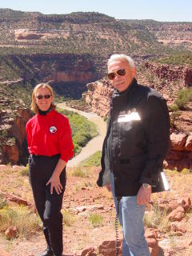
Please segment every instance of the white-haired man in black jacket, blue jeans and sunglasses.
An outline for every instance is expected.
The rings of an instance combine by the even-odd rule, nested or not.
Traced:
[[[102,170],[98,186],[114,196],[123,229],[123,256],[150,256],[144,236],[143,216],[170,142],[166,100],[156,90],[138,85],[134,61],[114,54],[108,61],[108,77],[114,86]]]

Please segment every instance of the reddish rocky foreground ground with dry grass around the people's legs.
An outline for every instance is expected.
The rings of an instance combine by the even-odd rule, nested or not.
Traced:
[[[67,169],[63,200],[63,255],[114,255],[114,203],[111,194],[95,184],[98,170],[99,167],[84,168],[84,177],[77,177],[77,169]],[[146,237],[151,255],[191,256],[192,174],[166,170],[166,175],[170,181],[170,192],[154,194],[153,205],[146,207]],[[31,209],[32,214],[34,202],[30,184],[27,176],[21,176],[21,167],[0,166],[0,177],[0,194],[6,202],[13,207],[22,203]],[[93,225],[90,216],[95,214],[100,221]],[[121,237],[120,226],[118,229]],[[31,232],[27,238],[6,239],[4,232],[0,235],[1,256],[36,256],[45,246],[40,231]]]

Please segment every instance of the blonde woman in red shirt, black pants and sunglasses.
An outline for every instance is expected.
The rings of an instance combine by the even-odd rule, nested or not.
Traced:
[[[47,249],[41,256],[62,256],[62,198],[66,186],[66,162],[74,154],[68,119],[55,110],[53,89],[47,83],[34,87],[26,123],[30,152],[30,184],[43,222]]]

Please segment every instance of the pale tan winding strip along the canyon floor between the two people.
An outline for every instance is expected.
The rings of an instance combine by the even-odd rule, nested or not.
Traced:
[[[67,166],[69,167],[78,166],[80,162],[90,157],[90,155],[94,154],[98,150],[102,150],[102,142],[106,135],[106,122],[104,122],[103,119],[97,114],[86,113],[82,110],[75,110],[73,108],[70,108],[69,106],[66,106],[65,102],[58,103],[58,107],[60,107],[61,109],[73,111],[78,114],[82,114],[84,117],[94,122],[94,124],[98,128],[98,136],[91,139],[90,142],[88,142],[86,146],[82,148],[81,153],[67,163]]]

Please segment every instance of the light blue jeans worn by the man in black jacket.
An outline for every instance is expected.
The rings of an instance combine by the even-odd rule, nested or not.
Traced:
[[[114,174],[110,174],[110,186],[116,211],[118,201],[114,195]],[[144,236],[143,216],[145,206],[138,205],[137,196],[122,197],[119,202],[118,220],[122,226],[122,256],[150,256]]]

